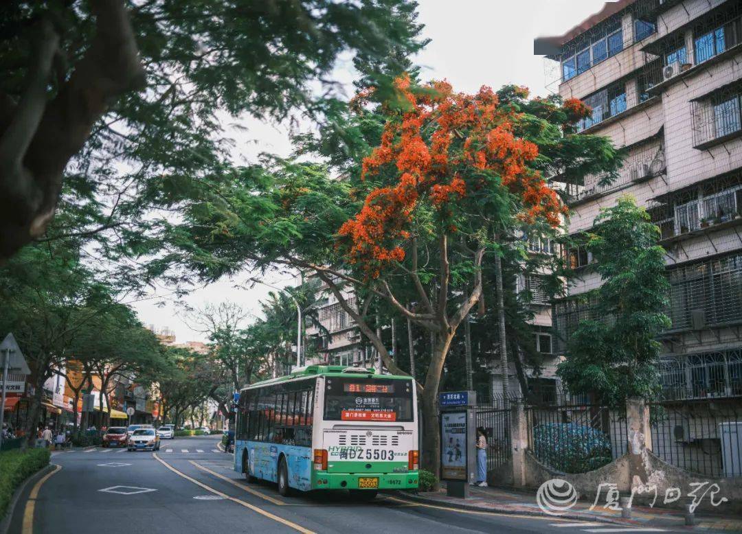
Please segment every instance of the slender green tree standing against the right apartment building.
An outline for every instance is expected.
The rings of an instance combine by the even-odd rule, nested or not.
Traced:
[[[570,392],[594,393],[619,405],[657,391],[656,337],[670,326],[663,313],[669,283],[659,239],[649,214],[630,197],[595,220],[587,247],[603,285],[594,294],[591,318],[570,337],[566,360],[557,369]]]

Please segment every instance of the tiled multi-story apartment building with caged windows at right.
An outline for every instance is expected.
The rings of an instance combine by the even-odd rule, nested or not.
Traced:
[[[671,286],[663,385],[686,397],[742,395],[742,1],[619,0],[534,51],[559,65],[559,94],[592,109],[585,133],[626,148],[620,177],[564,184],[569,233],[631,194],[666,248]],[[600,277],[563,252],[579,280],[554,303],[554,351],[591,317]]]

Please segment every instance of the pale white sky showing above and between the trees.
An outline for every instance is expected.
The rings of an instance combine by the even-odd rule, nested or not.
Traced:
[[[417,58],[424,67],[421,78],[447,79],[455,90],[474,92],[482,85],[495,90],[513,83],[531,88],[531,93],[545,95],[552,79],[546,79],[545,61],[533,56],[533,39],[537,36],[559,35],[582,22],[603,6],[602,0],[418,0],[419,22],[425,24],[423,34],[432,39]],[[338,65],[337,78],[352,80],[348,62]],[[286,128],[268,125],[253,119],[240,122],[248,131],[235,133],[237,145],[234,159],[254,160],[260,152],[287,155],[291,149]],[[253,314],[259,313],[260,300],[271,289],[255,285],[253,289],[237,289],[248,275],[234,280],[220,280],[196,289],[174,302],[168,290],[162,288],[151,299],[134,303],[140,320],[155,329],[174,331],[178,342],[206,340],[185,323],[178,310],[183,304],[202,307],[205,303],[225,300],[240,304]],[[298,282],[290,274],[269,273],[262,277],[275,286],[294,286]]]

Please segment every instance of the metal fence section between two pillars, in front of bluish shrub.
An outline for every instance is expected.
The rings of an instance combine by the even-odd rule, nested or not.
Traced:
[[[561,472],[588,472],[622,456],[626,409],[559,395],[555,403],[529,404],[528,447],[542,464]]]

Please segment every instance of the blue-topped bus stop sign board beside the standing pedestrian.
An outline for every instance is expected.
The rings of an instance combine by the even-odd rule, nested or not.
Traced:
[[[444,392],[441,421],[441,480],[449,497],[468,498],[476,477],[476,392]]]

